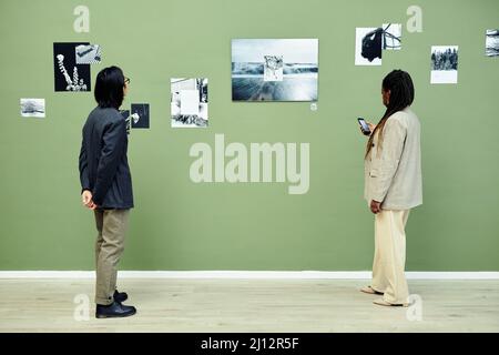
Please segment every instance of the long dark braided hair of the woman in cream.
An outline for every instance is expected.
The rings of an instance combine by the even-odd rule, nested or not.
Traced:
[[[388,121],[390,115],[404,110],[414,101],[413,79],[410,79],[409,73],[405,72],[404,70],[394,70],[388,75],[386,75],[385,79],[383,79],[383,90],[390,91],[389,102],[386,106],[385,114],[383,115],[381,120],[379,120],[379,123],[376,125],[375,130],[369,136],[365,158],[369,155],[369,152],[373,149],[375,133],[379,132],[377,149],[380,150],[383,146],[383,129],[385,128],[386,121]]]

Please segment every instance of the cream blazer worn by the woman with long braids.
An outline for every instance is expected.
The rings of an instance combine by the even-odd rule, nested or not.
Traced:
[[[419,119],[406,108],[385,123],[381,150],[378,132],[365,159],[364,197],[383,202],[385,210],[409,210],[422,203]]]

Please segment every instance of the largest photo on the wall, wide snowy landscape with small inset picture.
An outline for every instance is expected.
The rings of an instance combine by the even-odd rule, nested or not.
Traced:
[[[318,39],[233,39],[233,101],[317,101]]]

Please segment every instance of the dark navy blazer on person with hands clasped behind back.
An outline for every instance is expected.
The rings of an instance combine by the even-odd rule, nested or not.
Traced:
[[[81,189],[92,192],[102,209],[133,207],[132,176],[126,149],[126,122],[116,109],[95,108],[82,131]]]

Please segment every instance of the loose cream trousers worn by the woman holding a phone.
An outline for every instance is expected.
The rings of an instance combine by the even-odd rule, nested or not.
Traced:
[[[391,304],[408,302],[409,290],[404,268],[406,265],[405,226],[410,210],[381,210],[375,217],[375,256],[373,284]]]

